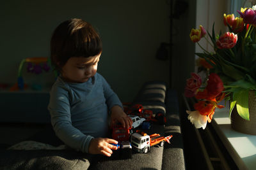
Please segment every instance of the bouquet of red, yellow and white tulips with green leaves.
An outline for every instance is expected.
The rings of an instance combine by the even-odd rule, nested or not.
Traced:
[[[198,43],[203,53],[198,57],[209,64],[207,85],[202,87],[202,79],[198,74],[191,73],[185,88],[186,97],[195,97],[195,111],[187,111],[189,120],[196,128],[205,128],[211,122],[216,108],[223,108],[220,101],[230,101],[230,113],[234,106],[239,115],[250,120],[248,111],[248,92],[256,90],[256,6],[241,8],[234,14],[223,15],[228,32],[215,34],[214,24],[212,34],[200,29],[191,29],[190,38]],[[206,38],[206,33],[209,38]],[[214,52],[208,52],[199,43],[205,38]]]

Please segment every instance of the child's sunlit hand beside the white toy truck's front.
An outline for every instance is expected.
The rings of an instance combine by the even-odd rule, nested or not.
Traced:
[[[89,145],[89,153],[102,154],[110,157],[112,150],[117,150],[117,147],[110,143],[118,144],[118,141],[109,138],[93,138]]]

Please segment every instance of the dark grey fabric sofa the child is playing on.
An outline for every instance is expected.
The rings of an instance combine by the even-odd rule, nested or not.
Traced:
[[[152,124],[147,134],[172,134],[170,144],[153,146],[148,153],[117,150],[111,157],[90,155],[74,150],[1,150],[0,169],[185,169],[184,146],[180,132],[179,103],[175,90],[166,89],[161,81],[148,81],[132,104],[164,113],[166,124]],[[49,129],[29,140],[60,145]]]

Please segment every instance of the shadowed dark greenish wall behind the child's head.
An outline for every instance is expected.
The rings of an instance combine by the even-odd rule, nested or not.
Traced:
[[[25,57],[49,56],[51,34],[60,22],[83,18],[102,37],[99,73],[122,101],[131,101],[144,81],[169,82],[169,61],[155,58],[160,43],[170,39],[169,15],[165,0],[3,1],[0,83],[15,83]],[[54,80],[49,74],[24,74],[26,81],[41,80],[45,85]]]

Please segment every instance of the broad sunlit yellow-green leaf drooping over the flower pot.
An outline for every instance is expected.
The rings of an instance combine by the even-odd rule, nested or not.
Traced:
[[[248,90],[237,92],[236,109],[240,117],[250,120],[248,108]]]

